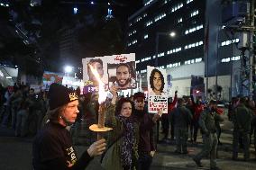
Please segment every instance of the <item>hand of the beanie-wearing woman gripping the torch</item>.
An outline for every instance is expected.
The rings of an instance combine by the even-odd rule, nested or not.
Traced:
[[[105,150],[105,139],[100,139],[94,142],[88,149],[87,152],[90,157],[96,157],[103,154]]]

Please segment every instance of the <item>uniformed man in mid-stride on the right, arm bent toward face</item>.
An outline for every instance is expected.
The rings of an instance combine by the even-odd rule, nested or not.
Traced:
[[[216,166],[216,150],[218,139],[216,135],[216,121],[223,121],[223,119],[216,113],[217,102],[212,100],[210,101],[208,107],[199,118],[199,125],[202,130],[204,148],[199,152],[193,160],[196,162],[197,166],[202,167],[201,159],[207,157],[210,154],[210,169],[218,170]]]

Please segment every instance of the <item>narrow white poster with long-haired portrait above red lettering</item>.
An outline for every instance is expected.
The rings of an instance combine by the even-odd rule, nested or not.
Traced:
[[[162,110],[163,113],[168,113],[166,70],[148,66],[147,81],[149,92],[149,112],[157,113]]]

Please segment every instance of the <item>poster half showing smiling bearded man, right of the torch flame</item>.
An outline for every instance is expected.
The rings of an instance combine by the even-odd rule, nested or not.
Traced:
[[[119,89],[136,88],[136,64],[135,54],[114,55],[108,58],[107,74],[109,86],[117,86]]]

